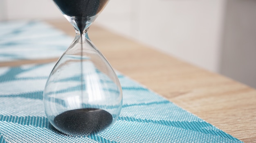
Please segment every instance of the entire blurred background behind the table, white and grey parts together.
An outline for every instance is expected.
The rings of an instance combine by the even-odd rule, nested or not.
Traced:
[[[0,0],[2,21],[60,18],[52,0]],[[256,0],[110,0],[95,23],[256,88]]]

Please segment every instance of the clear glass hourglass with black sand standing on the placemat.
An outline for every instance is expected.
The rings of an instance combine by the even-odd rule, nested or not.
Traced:
[[[49,122],[73,136],[98,133],[118,118],[121,85],[88,37],[88,29],[108,0],[54,0],[74,26],[76,37],[46,82],[43,102]]]

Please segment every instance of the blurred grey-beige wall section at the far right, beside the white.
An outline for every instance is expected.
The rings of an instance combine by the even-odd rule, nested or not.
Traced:
[[[220,73],[256,88],[256,0],[228,0]]]

